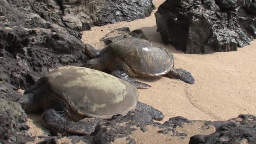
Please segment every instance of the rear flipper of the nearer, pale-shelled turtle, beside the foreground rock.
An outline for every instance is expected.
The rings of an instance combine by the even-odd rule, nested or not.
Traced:
[[[152,117],[153,120],[160,121],[160,120],[163,120],[163,118],[165,117],[163,113],[160,112],[159,110],[139,101],[137,102],[137,105],[134,108],[134,110],[136,110],[137,112],[146,112]]]

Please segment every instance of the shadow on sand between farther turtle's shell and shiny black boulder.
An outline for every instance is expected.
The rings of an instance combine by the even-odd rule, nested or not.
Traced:
[[[144,35],[146,35],[148,40],[152,43],[156,43],[157,45],[168,49],[168,51],[170,51],[171,53],[185,53],[184,51],[176,50],[175,47],[171,44],[163,43],[160,33],[157,32],[156,25],[153,27],[141,27],[140,29],[143,31]]]

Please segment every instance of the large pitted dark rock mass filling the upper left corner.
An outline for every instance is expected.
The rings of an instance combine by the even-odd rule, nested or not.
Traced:
[[[54,9],[45,10],[46,3],[2,0],[0,5],[0,81],[25,89],[48,69],[82,65],[81,35],[57,24],[61,18]]]

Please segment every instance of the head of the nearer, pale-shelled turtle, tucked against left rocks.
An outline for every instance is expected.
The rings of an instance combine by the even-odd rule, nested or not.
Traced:
[[[32,112],[37,109],[35,105],[34,93],[24,94],[21,99],[19,99],[19,102],[25,112]]]

